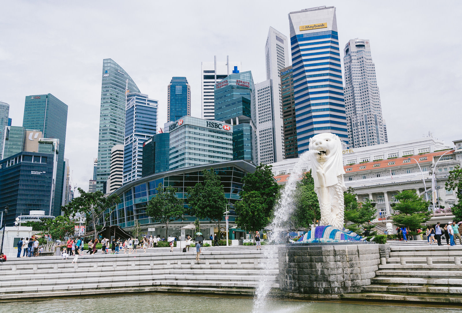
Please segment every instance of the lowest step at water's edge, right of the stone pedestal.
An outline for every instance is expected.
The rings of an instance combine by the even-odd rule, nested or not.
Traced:
[[[359,294],[342,294],[340,295],[342,300],[349,301],[403,301],[403,302],[434,302],[434,303],[445,303],[460,305],[462,303],[462,297],[456,296],[442,296],[442,295],[400,295],[400,294],[386,294],[386,293],[359,293]]]

